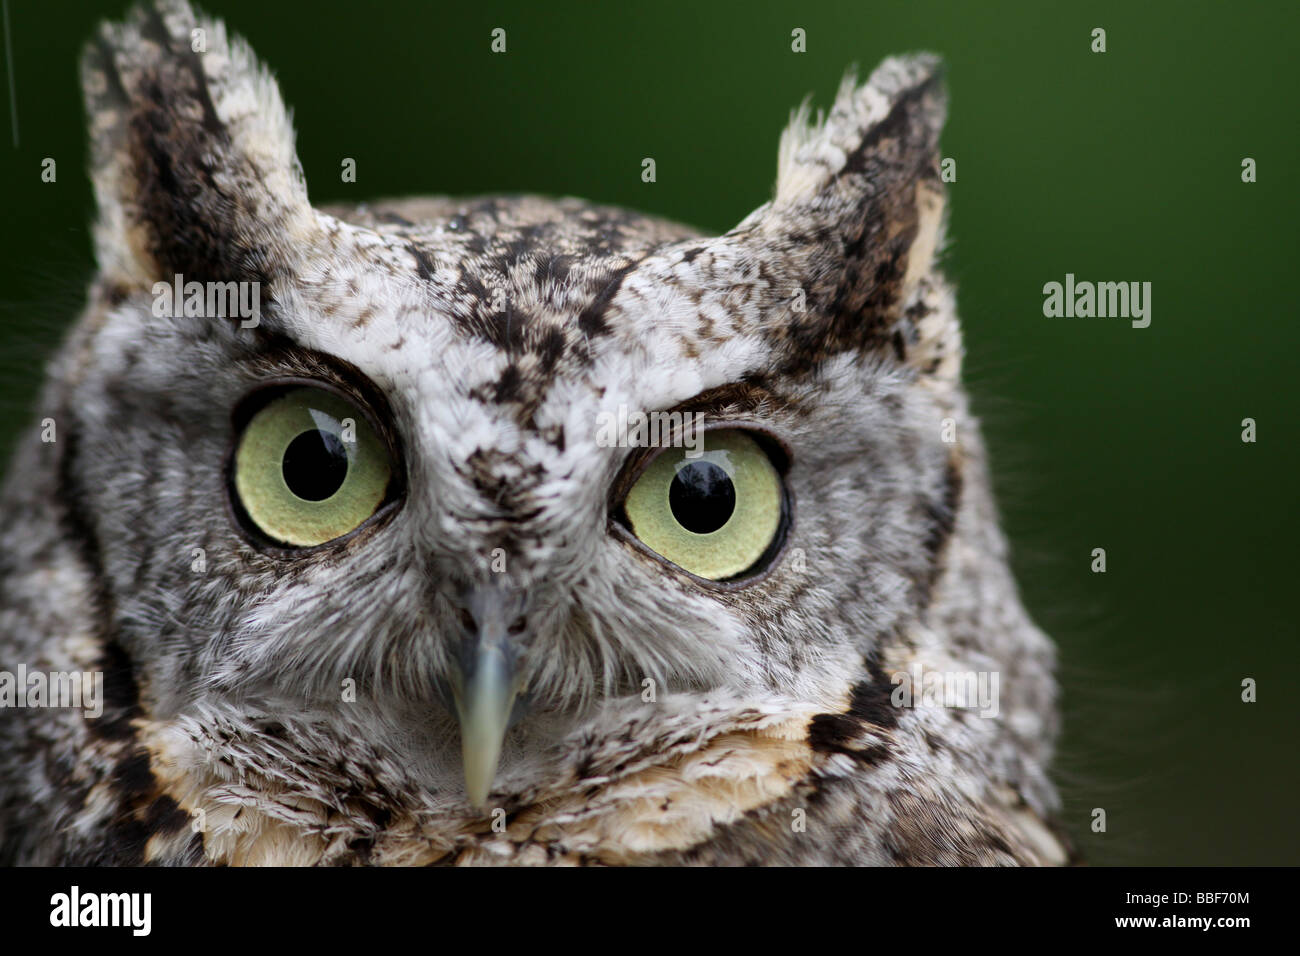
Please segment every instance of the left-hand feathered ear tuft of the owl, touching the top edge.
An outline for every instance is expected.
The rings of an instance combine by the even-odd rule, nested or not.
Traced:
[[[82,57],[95,247],[126,287],[269,278],[315,216],[276,82],[221,22],[156,0]]]

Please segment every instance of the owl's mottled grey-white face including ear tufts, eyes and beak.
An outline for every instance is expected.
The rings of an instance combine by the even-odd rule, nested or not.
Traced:
[[[577,200],[313,208],[274,85],[191,25],[159,4],[87,52],[100,274],[57,369],[151,718],[209,750],[294,721],[299,765],[364,740],[484,805],[647,705],[844,709],[962,494],[935,61],[796,116],[775,198],[703,237]],[[186,284],[256,321],[160,308]]]

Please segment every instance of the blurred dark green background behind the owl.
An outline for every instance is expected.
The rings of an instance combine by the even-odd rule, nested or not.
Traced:
[[[91,274],[77,56],[125,9],[9,7],[5,449]],[[826,105],[852,62],[942,53],[958,173],[946,269],[1015,570],[1061,646],[1065,822],[1095,864],[1300,862],[1295,4],[208,9],[276,70],[316,202],[536,191],[719,232],[770,195],[806,94]],[[504,56],[489,52],[498,26]],[[40,182],[47,156],[56,183]],[[1150,328],[1044,317],[1044,282],[1067,272],[1152,282]],[[1089,571],[1093,548],[1106,574]],[[1247,676],[1257,704],[1240,701]]]

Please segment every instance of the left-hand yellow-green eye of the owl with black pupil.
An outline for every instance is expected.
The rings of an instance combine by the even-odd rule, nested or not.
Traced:
[[[351,402],[299,388],[248,420],[234,459],[239,503],[261,533],[311,548],[341,537],[387,497],[393,466]]]

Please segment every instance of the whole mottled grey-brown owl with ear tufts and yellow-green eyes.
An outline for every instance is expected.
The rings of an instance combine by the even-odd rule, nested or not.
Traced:
[[[82,83],[98,272],[0,506],[0,858],[1070,860],[935,57],[796,111],[722,235],[313,207],[182,0]]]

